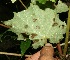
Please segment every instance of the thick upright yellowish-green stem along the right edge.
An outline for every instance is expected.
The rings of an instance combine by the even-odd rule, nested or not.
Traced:
[[[69,12],[68,12],[68,20],[67,20],[67,29],[66,29],[65,46],[64,46],[64,51],[63,51],[63,55],[64,55],[64,56],[66,56],[67,47],[68,47],[69,27],[70,27],[69,24],[70,24],[70,7],[69,7]]]

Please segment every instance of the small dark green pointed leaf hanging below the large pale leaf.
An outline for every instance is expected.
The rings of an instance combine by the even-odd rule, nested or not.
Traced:
[[[26,41],[21,41],[20,49],[21,49],[21,55],[23,56],[26,50],[30,47],[31,41],[27,39]]]

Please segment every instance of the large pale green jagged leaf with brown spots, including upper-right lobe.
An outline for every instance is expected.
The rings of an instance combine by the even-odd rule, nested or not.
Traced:
[[[32,45],[36,49],[43,46],[47,39],[50,40],[50,43],[58,43],[63,38],[66,23],[59,19],[57,13],[66,11],[68,7],[61,1],[58,1],[54,10],[50,8],[42,10],[31,3],[27,10],[14,13],[14,18],[5,21],[4,24],[12,26],[10,30],[18,35],[18,40],[25,38],[21,33],[29,35],[30,40],[36,41]]]

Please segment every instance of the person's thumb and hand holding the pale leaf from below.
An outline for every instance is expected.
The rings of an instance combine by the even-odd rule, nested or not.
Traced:
[[[25,60],[58,60],[53,57],[54,48],[47,43],[40,51],[26,58]]]

